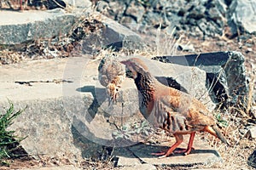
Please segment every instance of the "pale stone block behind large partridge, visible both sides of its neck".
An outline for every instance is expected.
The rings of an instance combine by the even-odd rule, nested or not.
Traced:
[[[158,79],[159,82],[165,84],[166,86],[172,86],[185,93],[188,93],[196,99],[200,99],[204,104],[207,105],[210,111],[214,109],[215,105],[212,103],[212,100],[207,93],[207,88],[205,87],[205,71],[192,66],[170,65],[159,61],[146,59],[142,56],[135,57],[143,59],[144,64],[148,66],[148,70],[154,77]],[[125,59],[127,58],[128,57]],[[102,94],[102,92],[99,92],[99,94]],[[113,108],[109,107],[108,103],[102,103],[102,108],[105,108],[105,111],[111,112],[111,114],[114,115],[120,115],[121,111],[128,112],[131,115],[137,113],[139,104],[137,99],[137,88],[133,80],[130,79],[124,82],[124,85],[122,85],[122,88],[119,90],[117,101],[117,104],[111,105]],[[132,109],[129,111],[131,105]]]

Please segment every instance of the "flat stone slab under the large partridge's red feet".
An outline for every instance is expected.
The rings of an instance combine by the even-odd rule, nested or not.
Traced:
[[[187,148],[189,142],[189,135],[184,135],[184,141],[178,149]],[[168,165],[168,166],[192,166],[196,164],[207,164],[217,161],[222,161],[221,156],[217,150],[212,149],[206,142],[195,136],[194,148],[188,156],[183,154],[175,154],[166,158],[159,159],[157,156],[152,156],[151,153],[158,153],[160,151],[168,150],[169,147],[175,143],[172,138],[170,142],[153,144],[140,144],[131,147],[131,151],[139,157],[140,160],[152,165]]]

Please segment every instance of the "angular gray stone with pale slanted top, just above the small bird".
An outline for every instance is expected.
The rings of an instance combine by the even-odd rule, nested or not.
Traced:
[[[131,50],[141,49],[144,47],[142,38],[135,32],[121,26],[114,20],[101,15],[102,29],[96,33],[86,36],[81,41],[84,54],[95,54],[101,48],[127,48]]]

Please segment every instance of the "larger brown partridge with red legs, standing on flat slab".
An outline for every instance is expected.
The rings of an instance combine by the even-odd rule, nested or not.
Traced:
[[[175,88],[167,87],[154,78],[144,65],[142,59],[132,58],[121,61],[131,71],[132,78],[139,94],[139,108],[148,122],[172,133],[176,138],[166,152],[154,155],[170,156],[179,144],[183,142],[183,135],[190,134],[188,148],[175,153],[188,155],[192,150],[195,132],[208,132],[227,144],[216,122],[199,100],[192,98]]]

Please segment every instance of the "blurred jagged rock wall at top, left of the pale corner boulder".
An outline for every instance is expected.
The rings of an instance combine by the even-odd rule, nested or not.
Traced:
[[[162,29],[172,30],[175,26],[178,31],[188,31],[192,36],[222,35],[226,14],[224,0],[189,2],[158,0],[139,3],[105,0],[104,2],[108,8],[97,8],[99,11],[104,12],[112,19],[119,20],[125,26],[136,30],[140,29],[137,31],[143,31],[144,27],[148,26],[147,33],[153,27],[157,28],[161,24]],[[115,2],[116,5],[110,6],[109,2]],[[125,10],[119,10],[119,7],[125,8]],[[130,23],[128,23],[129,21]]]

